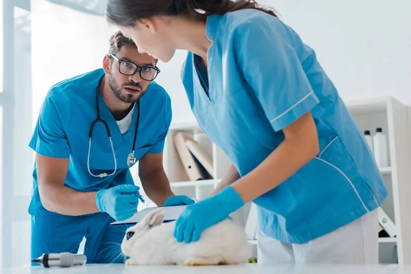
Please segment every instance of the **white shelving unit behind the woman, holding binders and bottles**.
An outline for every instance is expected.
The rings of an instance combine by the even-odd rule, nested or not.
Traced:
[[[388,142],[388,166],[380,168],[388,187],[388,198],[382,203],[382,209],[397,226],[396,238],[379,238],[379,261],[391,262],[393,249],[397,247],[399,264],[411,263],[411,158],[410,129],[411,112],[393,97],[366,99],[346,102],[349,112],[358,123],[360,129],[370,130],[375,134],[377,127],[382,127]],[[184,166],[173,143],[173,136],[184,132],[196,140],[199,146],[212,159],[213,179],[190,182]],[[164,148],[164,169],[171,182],[171,188],[176,195],[188,195],[197,201],[208,197],[219,183],[231,162],[201,130],[197,123],[182,123],[171,125],[166,137]],[[232,217],[245,226],[250,205],[247,204]],[[257,240],[249,240],[256,252]],[[256,254],[254,254],[256,256]]]

